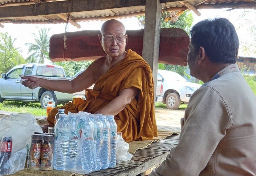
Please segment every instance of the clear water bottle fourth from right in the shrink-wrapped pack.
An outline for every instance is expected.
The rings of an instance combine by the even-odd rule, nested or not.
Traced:
[[[82,115],[79,120],[79,129],[82,132],[83,139],[83,154],[85,158],[82,161],[82,167],[84,171],[91,171],[93,162],[95,158],[93,149],[93,126],[91,126],[92,122],[88,116]]]

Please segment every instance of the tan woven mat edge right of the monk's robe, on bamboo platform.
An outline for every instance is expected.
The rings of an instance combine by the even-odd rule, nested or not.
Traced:
[[[158,142],[160,140],[165,139],[168,136],[171,136],[173,134],[180,134],[181,129],[172,127],[165,127],[165,126],[157,126],[157,133],[158,136],[155,137],[153,140],[146,140],[146,141],[132,141],[129,142],[129,153],[135,153],[139,149],[143,149],[147,146],[149,146],[152,142]]]

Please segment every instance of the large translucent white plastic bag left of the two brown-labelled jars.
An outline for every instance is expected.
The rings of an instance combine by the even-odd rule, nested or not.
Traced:
[[[1,118],[0,129],[0,176],[14,174],[24,169],[31,134],[43,131],[36,123],[35,116],[30,113],[12,114],[10,117]],[[6,138],[11,140],[6,143]],[[10,156],[7,157],[4,149],[11,150]]]

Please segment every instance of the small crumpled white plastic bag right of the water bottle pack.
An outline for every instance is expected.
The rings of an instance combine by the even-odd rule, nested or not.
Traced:
[[[122,135],[117,135],[116,143],[116,163],[130,161],[132,159],[132,154],[128,152],[129,144],[124,141]]]

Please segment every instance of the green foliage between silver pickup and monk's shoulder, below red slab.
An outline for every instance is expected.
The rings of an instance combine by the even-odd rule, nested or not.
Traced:
[[[62,66],[66,76],[73,76],[80,70],[87,68],[91,63],[92,61],[64,61],[55,62],[54,64]]]

